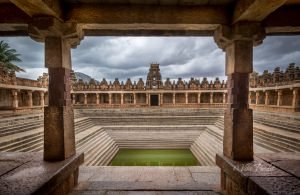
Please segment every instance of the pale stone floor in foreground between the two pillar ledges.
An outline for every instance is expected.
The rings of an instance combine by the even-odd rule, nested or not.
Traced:
[[[81,166],[72,194],[218,194],[220,169],[214,166]]]

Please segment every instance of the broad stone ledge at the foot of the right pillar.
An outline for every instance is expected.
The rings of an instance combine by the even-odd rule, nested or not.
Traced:
[[[226,194],[300,194],[300,153],[260,154],[248,162],[217,154],[216,164]]]

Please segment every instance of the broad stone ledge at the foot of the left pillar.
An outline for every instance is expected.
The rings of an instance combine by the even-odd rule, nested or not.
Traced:
[[[0,153],[0,194],[67,194],[77,184],[84,155],[58,162],[43,153]]]

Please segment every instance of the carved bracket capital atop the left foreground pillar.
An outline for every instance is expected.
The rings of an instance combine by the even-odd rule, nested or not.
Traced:
[[[82,27],[73,22],[61,22],[52,16],[34,17],[28,25],[29,36],[38,42],[45,42],[47,37],[60,37],[75,48],[83,39]]]

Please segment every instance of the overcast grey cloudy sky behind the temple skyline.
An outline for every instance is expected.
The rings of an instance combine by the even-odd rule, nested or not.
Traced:
[[[0,40],[21,54],[18,65],[26,73],[17,76],[36,79],[47,71],[42,43],[27,37]],[[164,79],[225,79],[225,55],[212,37],[85,37],[72,50],[73,69],[97,80],[145,79],[151,62],[160,64]],[[254,49],[254,70],[258,72],[284,68],[291,62],[300,65],[300,36],[268,37]]]

